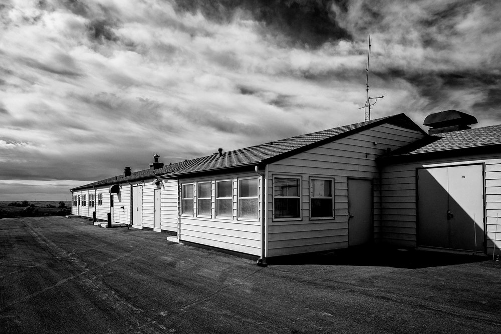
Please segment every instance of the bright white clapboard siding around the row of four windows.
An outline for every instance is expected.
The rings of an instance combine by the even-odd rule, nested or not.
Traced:
[[[229,249],[236,252],[260,255],[261,254],[261,204],[258,208],[258,219],[251,221],[241,220],[237,218],[237,181],[238,178],[255,177],[258,178],[256,173],[239,173],[239,174],[221,174],[217,177],[204,177],[199,179],[183,179],[179,180],[179,184],[194,183],[194,192],[196,198],[197,183],[198,182],[211,182],[211,215],[210,217],[197,217],[197,200],[194,201],[193,215],[181,215],[179,217],[179,235],[181,241],[194,242],[212,247]],[[215,184],[220,180],[232,180],[233,193],[232,193],[232,216],[231,217],[216,217],[215,211]],[[177,189],[172,187],[171,198],[177,199]],[[258,182],[258,202],[261,202],[261,179]],[[171,212],[177,211],[177,206],[172,206]],[[172,218],[174,218],[172,216]],[[176,217],[177,219],[177,217]],[[177,220],[175,222],[177,228]]]

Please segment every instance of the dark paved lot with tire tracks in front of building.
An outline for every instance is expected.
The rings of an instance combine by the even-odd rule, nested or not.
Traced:
[[[101,228],[0,219],[2,332],[485,332],[501,262],[403,250],[254,261]]]

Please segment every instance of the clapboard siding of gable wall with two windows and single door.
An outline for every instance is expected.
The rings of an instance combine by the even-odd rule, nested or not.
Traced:
[[[348,179],[371,179],[375,240],[380,238],[383,205],[376,157],[423,137],[421,132],[384,124],[310,149],[268,166],[267,256],[348,246]],[[273,219],[273,177],[302,179],[300,220]],[[334,219],[310,219],[310,177],[334,179]]]

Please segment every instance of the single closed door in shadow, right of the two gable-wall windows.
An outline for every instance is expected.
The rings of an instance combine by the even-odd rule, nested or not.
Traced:
[[[372,181],[348,179],[348,245],[373,239]]]

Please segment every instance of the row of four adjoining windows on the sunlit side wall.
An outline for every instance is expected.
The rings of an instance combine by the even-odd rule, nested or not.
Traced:
[[[258,219],[258,178],[237,180],[237,218]],[[212,209],[218,218],[233,218],[233,180],[214,182],[214,208],[212,207],[212,181],[181,184],[181,214],[211,217]],[[194,204],[196,200],[196,212]]]

